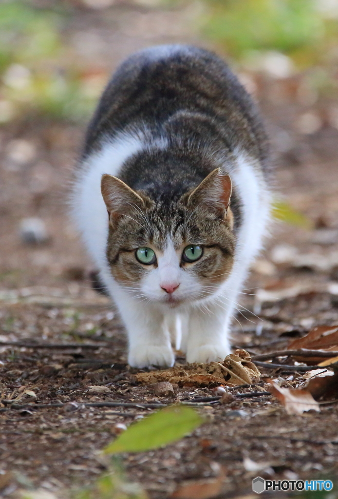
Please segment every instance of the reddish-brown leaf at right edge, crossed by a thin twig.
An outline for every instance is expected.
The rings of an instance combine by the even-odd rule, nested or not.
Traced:
[[[307,348],[308,350],[337,350],[338,349],[338,325],[334,326],[318,326],[312,329],[303,338],[297,338],[292,341],[288,350],[297,350],[299,348]],[[323,365],[323,357],[306,357],[306,354],[295,357],[296,360],[300,362],[306,362],[308,365],[316,365],[321,362]],[[330,363],[335,362],[333,359],[327,359],[325,362],[330,361]],[[329,364],[326,364],[329,365]]]

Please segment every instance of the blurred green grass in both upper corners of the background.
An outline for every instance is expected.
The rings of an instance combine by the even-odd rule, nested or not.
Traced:
[[[113,3],[0,2],[1,123],[27,113],[71,121],[89,116],[108,75],[81,67],[64,31],[79,8],[102,12]],[[137,3],[141,8],[164,6],[156,0]],[[276,78],[303,72],[310,90],[336,95],[337,0],[205,0],[193,4],[198,8],[190,20],[199,35],[228,55],[237,69],[267,72]],[[177,0],[165,2],[168,8],[182,5]]]

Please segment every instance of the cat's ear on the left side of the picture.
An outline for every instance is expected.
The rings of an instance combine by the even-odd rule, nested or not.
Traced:
[[[122,180],[112,175],[102,175],[101,193],[109,214],[109,221],[115,227],[122,216],[127,216],[135,208],[145,209],[146,200]]]

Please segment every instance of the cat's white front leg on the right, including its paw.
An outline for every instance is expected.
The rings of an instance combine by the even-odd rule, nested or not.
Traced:
[[[228,328],[230,309],[219,304],[193,309],[190,313],[187,353],[188,362],[222,361],[231,353]]]

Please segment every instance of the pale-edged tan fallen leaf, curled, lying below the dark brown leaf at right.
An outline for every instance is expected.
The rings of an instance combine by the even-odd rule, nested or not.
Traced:
[[[303,414],[311,409],[320,412],[318,402],[306,388],[298,390],[281,388],[274,382],[270,382],[269,391],[284,405],[288,414]]]

